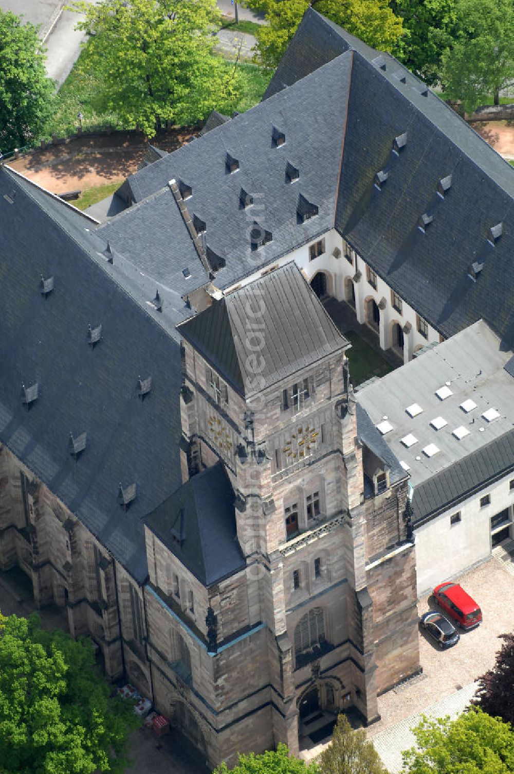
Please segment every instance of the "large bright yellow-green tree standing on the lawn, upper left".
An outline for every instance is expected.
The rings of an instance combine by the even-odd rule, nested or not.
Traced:
[[[73,10],[85,14],[82,69],[100,77],[98,108],[148,137],[167,121],[196,123],[233,96],[235,68],[227,75],[213,56],[216,0],[82,0]]]

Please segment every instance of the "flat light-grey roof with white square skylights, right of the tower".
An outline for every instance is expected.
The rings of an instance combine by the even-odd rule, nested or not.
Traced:
[[[471,483],[483,486],[514,468],[512,453],[502,457],[495,452],[508,453],[512,444],[508,437],[514,425],[514,385],[504,369],[511,356],[512,351],[502,348],[499,337],[479,320],[356,393],[375,426],[384,417],[392,426],[383,441],[408,466],[417,519],[431,512],[427,509],[451,502],[445,498],[454,497],[452,492],[468,491]],[[440,399],[436,392],[443,387],[451,395]],[[416,404],[422,410],[408,413]],[[488,421],[482,416],[488,409],[495,409],[498,416]],[[431,424],[438,418],[445,422],[439,430]],[[454,434],[459,428],[464,430],[458,433],[460,440]],[[403,439],[409,435],[414,442],[406,447]],[[430,444],[437,450],[427,456],[424,450],[430,451]]]

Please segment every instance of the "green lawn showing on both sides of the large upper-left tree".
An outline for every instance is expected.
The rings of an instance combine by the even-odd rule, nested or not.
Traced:
[[[56,111],[47,128],[47,139],[53,134],[59,137],[73,135],[77,131],[78,113],[82,113],[84,131],[104,128],[109,125],[115,129],[134,128],[132,125],[123,124],[115,112],[99,110],[97,95],[100,92],[100,80],[91,74],[80,72],[82,57],[83,53],[80,54],[73,70],[56,96]],[[233,63],[228,60],[223,61],[227,73],[230,73],[234,67]],[[221,101],[220,104],[216,104],[216,110],[227,115],[232,115],[233,111],[236,110],[243,113],[257,104],[266,91],[267,84],[269,84],[273,74],[273,70],[264,70],[264,68],[253,64],[238,63],[236,67],[239,76],[237,96],[224,103]]]

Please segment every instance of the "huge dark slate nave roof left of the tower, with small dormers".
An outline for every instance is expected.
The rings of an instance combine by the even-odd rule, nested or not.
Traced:
[[[142,582],[141,519],[182,483],[179,346],[109,276],[90,248],[90,219],[5,166],[0,221],[0,441]],[[54,279],[46,297],[42,276]],[[101,325],[94,348],[88,325]],[[141,401],[138,377],[148,375]],[[22,384],[36,382],[27,408]],[[87,434],[77,461],[70,433]],[[127,512],[120,483],[136,485]]]

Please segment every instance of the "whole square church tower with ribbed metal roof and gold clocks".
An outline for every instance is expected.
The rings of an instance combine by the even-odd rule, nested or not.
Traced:
[[[394,547],[400,560],[386,560],[390,582],[407,573],[412,585],[414,575],[414,546],[402,519],[406,477],[397,461],[381,459],[380,433],[352,392],[350,344],[294,263],[213,303],[179,330],[186,495],[174,495],[147,519],[151,583],[182,605],[186,623],[187,602],[184,608],[183,596],[159,577],[177,579],[180,594],[179,575],[189,574],[184,593],[203,600],[194,625],[210,651],[200,654],[198,676],[192,656],[186,663],[191,687],[203,686],[203,701],[216,714],[208,717],[195,691],[188,696],[193,713],[197,707],[206,719],[213,760],[233,762],[238,750],[279,741],[298,752],[299,738],[339,711],[354,707],[366,723],[378,717],[376,694],[385,686],[377,683],[376,635],[392,611],[381,611],[378,598],[375,605],[376,568]],[[226,481],[218,485],[223,502],[203,487],[207,475]],[[220,521],[227,505],[232,517]],[[213,565],[210,583],[191,564],[193,534],[203,565]],[[400,665],[407,676],[418,666],[415,594],[399,595],[411,642]],[[384,653],[390,645],[389,639]],[[390,674],[390,667],[382,671]],[[180,678],[175,683],[178,690]]]

